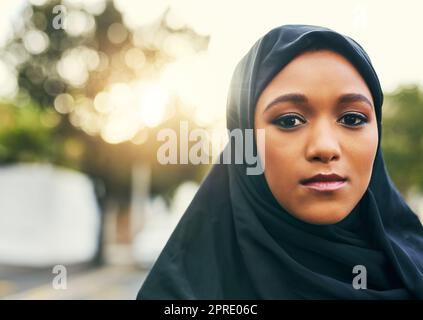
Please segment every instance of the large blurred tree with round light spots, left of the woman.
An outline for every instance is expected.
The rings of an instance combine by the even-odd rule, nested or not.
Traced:
[[[66,19],[79,17],[85,28],[80,30],[57,28],[54,8],[61,2],[48,1],[41,6],[27,5],[20,16],[23,23],[16,25],[15,37],[2,52],[3,59],[18,60],[18,97],[5,103],[0,112],[7,114],[9,122],[2,120],[0,131],[0,161],[50,161],[73,167],[104,182],[107,195],[127,203],[130,195],[131,168],[134,163],[149,163],[153,168],[152,190],[170,194],[185,179],[199,179],[199,166],[157,165],[156,132],[161,127],[175,125],[180,119],[189,118],[178,109],[178,99],[171,99],[176,111],[161,125],[152,129],[140,129],[143,144],[130,141],[109,144],[93,131],[75,121],[80,114],[78,104],[57,112],[56,98],[67,94],[70,103],[93,101],[94,97],[116,82],[127,83],[134,79],[157,76],[160,70],[175,57],[165,50],[169,36],[181,36],[193,51],[205,50],[209,38],[182,27],[172,29],[166,23],[168,11],[155,22],[137,30],[131,30],[123,22],[121,13],[112,1],[106,1],[105,9],[92,13],[84,7],[66,8]],[[82,20],[81,20],[82,19]],[[70,21],[70,20],[69,20]],[[69,22],[67,21],[67,22]],[[82,22],[81,22],[82,21]],[[78,24],[76,29],[78,29]],[[31,38],[32,37],[32,38]],[[34,38],[35,37],[35,38]],[[40,49],[44,39],[45,48]],[[31,43],[31,41],[35,41]],[[41,41],[41,44],[43,43]],[[132,50],[132,51],[131,51]],[[142,66],[128,64],[128,53],[144,57]],[[87,78],[66,77],[61,73],[63,61],[72,55],[80,55],[75,68],[86,66]],[[92,62],[96,62],[92,64]],[[72,70],[71,70],[72,71]],[[101,120],[104,116],[93,104],[87,107],[90,117]],[[97,128],[98,129],[98,128]]]

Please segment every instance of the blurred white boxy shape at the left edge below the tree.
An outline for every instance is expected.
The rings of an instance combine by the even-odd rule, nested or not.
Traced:
[[[48,164],[0,167],[0,264],[90,260],[100,211],[90,179]]]

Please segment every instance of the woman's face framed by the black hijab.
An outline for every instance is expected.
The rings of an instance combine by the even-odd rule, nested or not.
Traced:
[[[261,93],[254,122],[265,130],[258,150],[281,206],[313,224],[351,212],[369,185],[378,132],[372,95],[348,60],[329,50],[296,57]],[[319,173],[346,181],[332,191],[302,183]]]

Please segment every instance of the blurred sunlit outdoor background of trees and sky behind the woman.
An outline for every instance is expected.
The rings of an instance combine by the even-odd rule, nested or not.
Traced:
[[[209,170],[161,165],[157,132],[223,131],[236,63],[282,24],[364,46],[386,95],[388,171],[423,221],[422,11],[417,0],[0,0],[0,298],[134,299]]]

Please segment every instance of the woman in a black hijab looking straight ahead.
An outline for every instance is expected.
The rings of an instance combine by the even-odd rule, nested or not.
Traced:
[[[423,299],[423,228],[384,166],[382,103],[351,38],[286,25],[259,39],[227,125],[255,130],[264,173],[214,164],[138,298]]]

